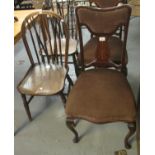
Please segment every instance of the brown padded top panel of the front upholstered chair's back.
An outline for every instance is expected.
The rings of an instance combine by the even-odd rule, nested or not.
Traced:
[[[80,7],[79,7],[80,8]],[[91,14],[94,16],[91,16]],[[77,8],[78,21],[85,25],[94,34],[114,33],[121,25],[127,25],[131,8],[128,5],[124,7],[115,7],[104,9],[89,9],[89,7]],[[96,20],[96,18],[101,20]],[[95,21],[95,22],[94,22]]]

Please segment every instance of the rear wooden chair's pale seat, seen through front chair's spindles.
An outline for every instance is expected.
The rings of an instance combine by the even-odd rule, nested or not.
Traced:
[[[57,40],[58,42],[58,40]],[[54,40],[51,41],[52,50],[54,49]],[[65,47],[66,47],[66,39],[61,39],[61,52],[62,55],[65,55]],[[69,49],[68,49],[68,55],[72,55],[76,52],[77,48],[77,40],[70,38],[69,39]],[[50,45],[47,43],[47,51],[48,55],[51,55]],[[60,47],[57,47],[58,53],[60,52]],[[45,52],[42,52],[42,55],[45,55]]]

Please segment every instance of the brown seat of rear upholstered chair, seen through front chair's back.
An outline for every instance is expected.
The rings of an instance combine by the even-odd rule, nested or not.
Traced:
[[[84,62],[85,64],[91,63],[95,58],[95,52],[97,49],[97,38],[93,37],[84,46]],[[116,63],[120,63],[121,54],[123,50],[123,43],[117,37],[110,37],[108,40],[108,46],[110,51],[110,59]],[[127,53],[127,52],[126,52]],[[127,63],[127,54],[126,54],[126,63]]]

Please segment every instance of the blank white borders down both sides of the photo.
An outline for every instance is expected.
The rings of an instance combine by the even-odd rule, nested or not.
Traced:
[[[0,154],[14,154],[14,1],[0,0]],[[155,1],[140,0],[141,155],[155,154]]]

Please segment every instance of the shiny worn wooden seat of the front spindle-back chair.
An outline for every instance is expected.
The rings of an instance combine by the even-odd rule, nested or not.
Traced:
[[[18,90],[27,95],[53,95],[63,89],[66,74],[64,67],[36,64],[30,68]]]

